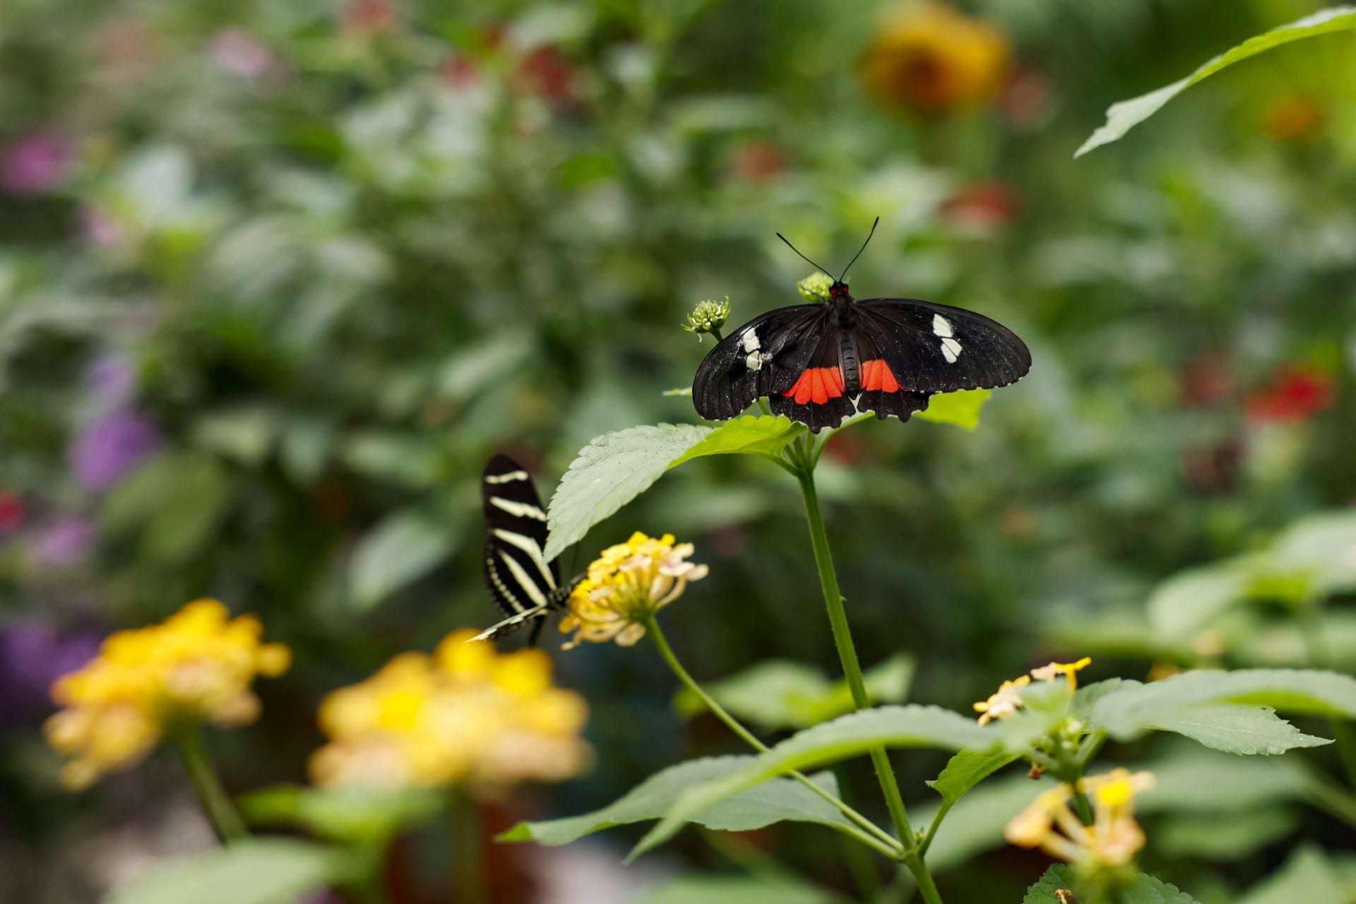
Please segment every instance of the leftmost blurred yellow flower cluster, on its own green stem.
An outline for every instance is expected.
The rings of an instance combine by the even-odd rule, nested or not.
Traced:
[[[47,743],[72,758],[62,781],[84,787],[132,766],[176,724],[252,721],[255,676],[281,675],[292,663],[287,648],[260,642],[262,633],[254,615],[231,619],[217,600],[199,599],[161,625],[104,640],[84,668],[52,686],[61,712],[47,720]]]

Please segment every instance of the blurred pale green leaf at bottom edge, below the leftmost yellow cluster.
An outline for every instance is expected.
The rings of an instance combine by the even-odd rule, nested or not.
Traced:
[[[153,866],[114,889],[107,904],[296,904],[351,873],[346,854],[332,847],[248,839]]]

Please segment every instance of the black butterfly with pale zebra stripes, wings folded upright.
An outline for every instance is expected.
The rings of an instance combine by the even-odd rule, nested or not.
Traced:
[[[534,622],[537,642],[546,617],[564,609],[579,577],[561,583],[560,562],[545,560],[546,512],[527,470],[509,455],[495,455],[480,478],[485,512],[485,585],[509,617],[475,640],[494,640]],[[582,577],[582,576],[580,576]]]

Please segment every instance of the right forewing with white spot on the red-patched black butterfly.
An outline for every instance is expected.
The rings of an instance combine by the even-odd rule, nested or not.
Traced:
[[[869,298],[856,302],[856,312],[895,381],[910,392],[993,389],[1031,370],[1026,344],[972,310],[915,298]]]

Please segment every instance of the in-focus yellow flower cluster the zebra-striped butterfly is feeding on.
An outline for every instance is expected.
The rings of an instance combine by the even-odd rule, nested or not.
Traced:
[[[689,581],[706,576],[705,565],[686,561],[692,543],[674,545],[674,535],[659,539],[640,531],[625,543],[609,546],[589,565],[587,576],[570,594],[570,611],[560,619],[563,633],[580,641],[631,646],[645,636],[645,619],[674,602]]]

